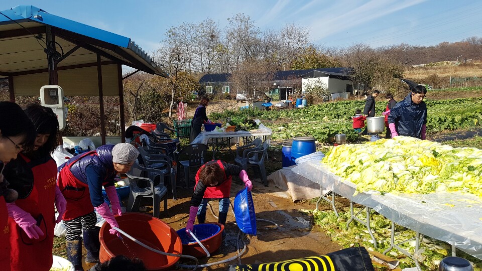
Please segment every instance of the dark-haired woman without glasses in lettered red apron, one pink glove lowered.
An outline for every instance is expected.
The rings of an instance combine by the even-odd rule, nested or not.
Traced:
[[[54,242],[54,204],[60,214],[66,202],[57,181],[57,165],[51,154],[58,142],[59,122],[51,108],[30,104],[25,109],[37,130],[34,147],[9,163],[4,171],[10,188],[19,192],[15,203],[7,204],[11,229],[13,270],[50,270]],[[32,257],[35,255],[35,257]]]

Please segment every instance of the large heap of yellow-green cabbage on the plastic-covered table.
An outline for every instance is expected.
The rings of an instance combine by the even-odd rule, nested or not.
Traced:
[[[333,147],[322,161],[359,192],[461,191],[482,196],[482,150],[410,137]]]

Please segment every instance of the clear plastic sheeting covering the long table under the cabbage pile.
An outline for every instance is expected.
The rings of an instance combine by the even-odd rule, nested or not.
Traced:
[[[482,200],[475,195],[458,192],[358,193],[356,185],[343,182],[320,162],[308,161],[292,171],[353,202],[374,209],[396,224],[455,245],[482,259]]]

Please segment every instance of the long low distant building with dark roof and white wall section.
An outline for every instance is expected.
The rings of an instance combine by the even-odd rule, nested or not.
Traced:
[[[286,100],[289,95],[297,89],[302,89],[303,80],[309,82],[312,78],[319,78],[326,82],[326,87],[330,93],[352,92],[353,86],[350,78],[351,68],[325,68],[276,71],[270,85],[273,88],[269,95],[273,100]],[[230,73],[206,74],[199,79],[199,84],[204,87],[206,94],[236,93],[238,90],[232,89],[231,82],[228,81]],[[243,91],[243,90],[240,90]],[[268,94],[268,93],[267,93]],[[241,99],[243,94],[237,93],[236,99]]]

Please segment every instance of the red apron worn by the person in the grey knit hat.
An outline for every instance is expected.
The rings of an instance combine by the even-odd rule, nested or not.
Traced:
[[[62,216],[62,220],[69,221],[86,215],[94,210],[94,206],[90,201],[88,184],[75,178],[70,171],[70,168],[81,158],[95,154],[95,151],[82,154],[75,161],[60,170],[57,183],[62,195],[64,195],[65,200],[67,201],[67,208]],[[107,182],[102,183],[102,185],[106,184]]]

